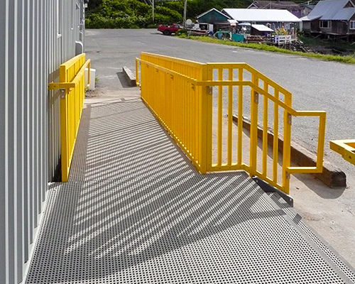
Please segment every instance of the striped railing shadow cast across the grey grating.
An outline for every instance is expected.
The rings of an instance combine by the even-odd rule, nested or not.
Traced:
[[[84,111],[91,116],[82,132],[84,179],[50,189],[28,283],[107,278],[169,253],[183,258],[182,248],[251,220],[280,217],[246,173],[197,173],[141,102]]]

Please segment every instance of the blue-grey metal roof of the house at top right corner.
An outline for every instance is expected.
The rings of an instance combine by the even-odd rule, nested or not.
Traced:
[[[315,8],[302,21],[320,19],[324,21],[347,21],[355,13],[355,6],[350,0],[319,1]]]

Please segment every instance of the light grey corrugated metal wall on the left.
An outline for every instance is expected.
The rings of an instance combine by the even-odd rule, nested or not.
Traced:
[[[0,0],[0,282],[21,283],[60,163],[58,67],[75,56],[83,0]]]

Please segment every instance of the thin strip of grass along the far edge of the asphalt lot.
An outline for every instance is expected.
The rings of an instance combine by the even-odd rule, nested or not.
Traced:
[[[288,49],[284,49],[284,48],[278,48],[274,45],[267,45],[265,43],[236,43],[234,41],[219,40],[217,38],[210,38],[207,36],[189,36],[189,37],[187,37],[185,35],[180,35],[180,38],[188,38],[190,40],[199,40],[204,43],[217,43],[217,44],[222,44],[222,45],[238,46],[239,48],[252,48],[252,49],[257,49],[257,50],[269,51],[269,52],[273,52],[273,53],[289,53],[289,54],[293,54],[293,55],[304,56],[307,58],[317,58],[320,60],[355,64],[355,58],[354,58],[354,56],[351,56],[351,55],[342,56],[342,55],[324,55],[324,54],[318,54],[318,53],[302,53],[300,51],[293,51],[293,50],[288,50]]]

